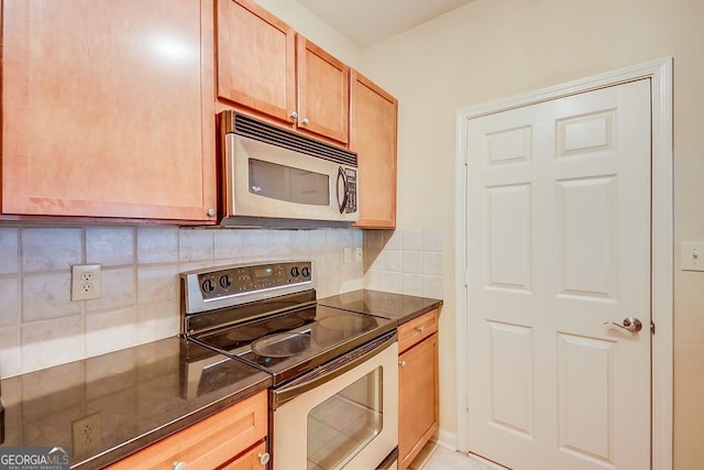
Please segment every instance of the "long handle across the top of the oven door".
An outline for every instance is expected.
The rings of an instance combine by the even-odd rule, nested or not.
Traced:
[[[301,395],[323,383],[342,375],[345,372],[356,368],[364,363],[370,358],[378,354],[386,348],[391,347],[398,340],[398,335],[394,330],[392,334],[385,335],[373,341],[367,342],[360,348],[348,352],[332,361],[320,365],[307,374],[298,378],[297,380],[276,389],[272,392],[272,409],[276,409],[283,404],[294,400],[296,396]]]

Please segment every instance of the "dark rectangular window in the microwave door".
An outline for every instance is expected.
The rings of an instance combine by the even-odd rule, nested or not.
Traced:
[[[308,206],[330,205],[330,177],[293,166],[249,159],[250,193]]]

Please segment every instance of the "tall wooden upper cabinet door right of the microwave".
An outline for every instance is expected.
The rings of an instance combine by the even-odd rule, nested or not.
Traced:
[[[350,150],[359,155],[361,228],[396,227],[397,100],[355,70],[351,74]]]

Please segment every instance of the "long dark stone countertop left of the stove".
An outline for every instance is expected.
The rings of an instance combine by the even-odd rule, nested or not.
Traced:
[[[270,385],[264,372],[167,338],[2,380],[2,446],[70,447],[72,468],[97,469]]]

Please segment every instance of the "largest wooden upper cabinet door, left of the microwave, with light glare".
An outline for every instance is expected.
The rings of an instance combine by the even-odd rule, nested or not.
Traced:
[[[211,8],[6,0],[2,212],[215,220]]]

